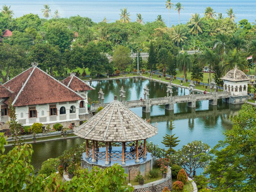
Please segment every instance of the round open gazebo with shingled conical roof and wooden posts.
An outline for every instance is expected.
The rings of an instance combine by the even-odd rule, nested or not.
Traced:
[[[84,138],[86,149],[81,158],[81,167],[102,168],[119,163],[133,179],[139,172],[152,169],[152,156],[147,153],[146,139],[157,134],[157,128],[140,118],[117,96],[105,108],[80,125],[74,132]],[[139,147],[139,141],[142,143]],[[135,150],[130,151],[134,144]]]

